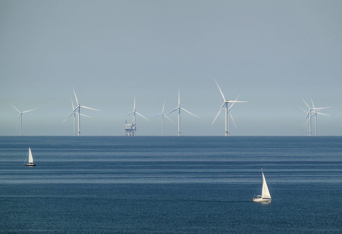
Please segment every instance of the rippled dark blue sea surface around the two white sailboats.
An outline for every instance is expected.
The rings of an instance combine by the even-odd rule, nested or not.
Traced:
[[[0,159],[0,233],[342,233],[342,137],[0,137]]]

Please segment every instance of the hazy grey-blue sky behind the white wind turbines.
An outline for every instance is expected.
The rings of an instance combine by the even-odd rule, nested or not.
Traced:
[[[301,136],[310,106],[317,135],[342,135],[342,1],[0,0],[0,135],[123,135],[133,111],[178,106],[182,135],[224,135],[223,99],[236,103],[232,136]],[[298,106],[297,106],[298,105]],[[177,113],[168,115],[177,124]],[[314,121],[314,120],[313,120]],[[161,118],[136,117],[136,135]],[[314,124],[312,125],[314,128]],[[164,135],[178,126],[164,119]],[[314,129],[313,129],[314,132]]]

